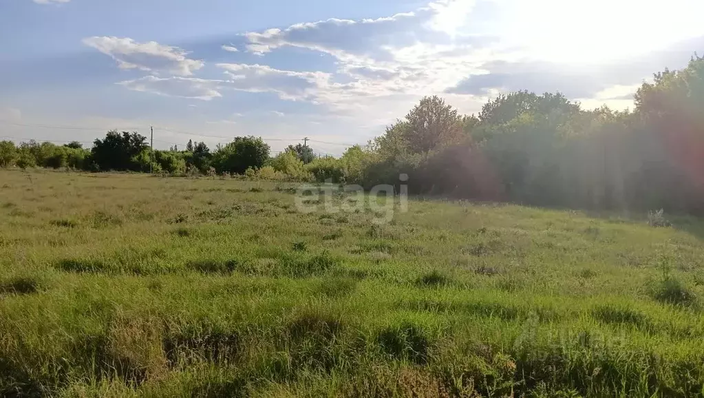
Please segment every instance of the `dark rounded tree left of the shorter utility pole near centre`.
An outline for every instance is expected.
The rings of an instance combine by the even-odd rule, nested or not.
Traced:
[[[225,147],[218,147],[213,154],[213,166],[218,173],[243,174],[248,168],[263,167],[269,151],[269,145],[260,137],[235,137]]]

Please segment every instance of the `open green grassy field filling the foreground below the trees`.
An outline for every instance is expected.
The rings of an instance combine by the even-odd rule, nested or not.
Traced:
[[[411,199],[376,225],[275,182],[0,187],[6,397],[704,393],[698,220]]]

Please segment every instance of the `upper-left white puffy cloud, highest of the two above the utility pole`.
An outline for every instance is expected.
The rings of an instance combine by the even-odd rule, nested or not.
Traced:
[[[203,68],[203,61],[190,59],[183,49],[157,42],[138,43],[130,38],[88,37],[83,43],[111,56],[122,69],[139,69],[151,73],[190,76]]]

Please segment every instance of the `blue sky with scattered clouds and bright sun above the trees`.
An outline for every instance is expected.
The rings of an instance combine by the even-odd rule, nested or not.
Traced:
[[[704,1],[1,0],[0,139],[154,147],[303,137],[341,154],[425,95],[477,113],[503,92],[633,107],[704,54]]]

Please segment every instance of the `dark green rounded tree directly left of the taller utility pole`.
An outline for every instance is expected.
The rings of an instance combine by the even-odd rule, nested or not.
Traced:
[[[109,131],[104,139],[96,139],[91,150],[93,161],[100,170],[137,170],[136,157],[147,151],[146,137],[137,132]]]

